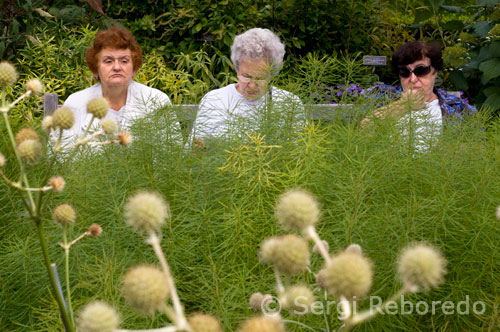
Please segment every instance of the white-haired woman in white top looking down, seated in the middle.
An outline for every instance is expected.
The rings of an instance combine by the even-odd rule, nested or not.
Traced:
[[[264,118],[276,126],[287,125],[283,118],[296,121],[303,112],[300,99],[269,84],[279,73],[284,55],[285,46],[269,29],[254,28],[236,36],[231,61],[238,82],[203,97],[194,125],[194,144],[209,136],[246,133],[250,125],[255,129]]]

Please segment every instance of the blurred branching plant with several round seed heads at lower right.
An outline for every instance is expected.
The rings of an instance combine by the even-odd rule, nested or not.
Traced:
[[[291,190],[283,194],[276,205],[278,222],[295,234],[275,236],[266,239],[260,248],[261,263],[274,268],[276,293],[279,305],[294,314],[312,312],[316,296],[304,284],[292,284],[291,277],[308,272],[314,275],[316,284],[322,291],[320,297],[328,302],[332,296],[339,304],[342,325],[330,330],[328,317],[325,314],[326,331],[350,331],[356,325],[365,322],[377,314],[383,313],[389,303],[401,299],[405,294],[426,291],[439,286],[444,281],[446,260],[434,247],[427,244],[415,244],[403,250],[399,256],[398,273],[402,287],[396,294],[375,308],[357,312],[357,302],[369,293],[373,279],[373,264],[363,255],[357,244],[349,245],[345,250],[330,255],[329,245],[321,240],[315,228],[320,217],[319,204],[307,192]],[[314,243],[313,252],[324,260],[323,268],[314,273],[309,268],[310,253],[308,241]],[[285,276],[283,283],[282,276]],[[254,309],[269,309],[272,296],[254,293],[250,298],[250,306]],[[267,313],[269,315],[269,313]],[[272,313],[279,316],[279,313]],[[287,320],[289,323],[299,322]]]

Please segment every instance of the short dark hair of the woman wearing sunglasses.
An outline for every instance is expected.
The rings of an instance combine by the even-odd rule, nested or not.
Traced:
[[[400,67],[422,60],[424,57],[431,60],[431,66],[434,69],[443,69],[441,45],[437,42],[428,43],[417,40],[402,45],[392,54],[392,71],[398,75]]]

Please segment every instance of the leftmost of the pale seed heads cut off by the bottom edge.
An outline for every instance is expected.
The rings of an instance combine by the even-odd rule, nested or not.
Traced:
[[[95,301],[80,311],[77,323],[79,332],[114,332],[120,325],[120,318],[113,307]]]

